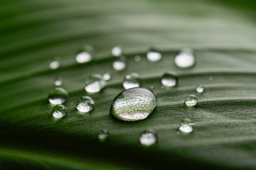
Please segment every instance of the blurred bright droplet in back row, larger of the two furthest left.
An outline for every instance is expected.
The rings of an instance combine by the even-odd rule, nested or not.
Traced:
[[[76,61],[78,63],[90,62],[94,57],[94,48],[91,45],[84,45],[76,55]]]

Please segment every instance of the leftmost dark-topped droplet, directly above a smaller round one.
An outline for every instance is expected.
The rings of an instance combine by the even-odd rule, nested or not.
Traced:
[[[67,101],[67,91],[56,87],[48,94],[48,101],[55,105],[65,103]]]

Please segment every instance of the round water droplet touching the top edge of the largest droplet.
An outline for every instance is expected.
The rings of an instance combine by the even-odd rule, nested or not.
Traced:
[[[123,87],[125,89],[131,89],[140,86],[140,76],[137,73],[127,74],[123,80]]]

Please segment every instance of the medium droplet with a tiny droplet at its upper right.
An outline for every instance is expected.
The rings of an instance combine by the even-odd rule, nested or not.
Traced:
[[[97,93],[106,86],[106,80],[99,74],[92,74],[85,80],[84,90],[88,93]]]

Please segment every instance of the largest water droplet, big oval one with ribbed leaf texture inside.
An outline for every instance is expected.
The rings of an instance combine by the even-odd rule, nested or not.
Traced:
[[[111,104],[110,113],[126,121],[143,120],[157,106],[157,98],[152,91],[140,87],[122,91]]]

